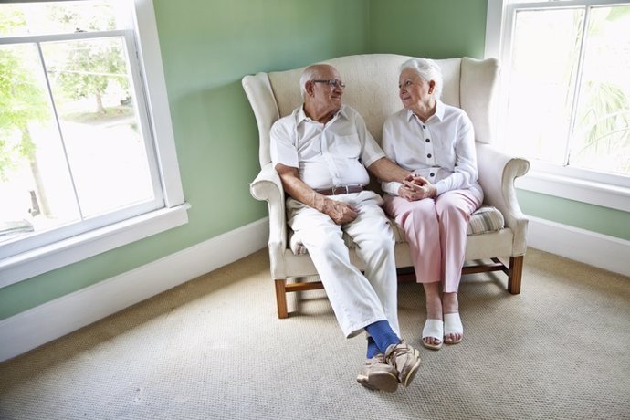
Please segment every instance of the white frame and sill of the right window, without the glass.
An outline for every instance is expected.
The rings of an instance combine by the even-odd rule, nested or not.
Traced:
[[[499,80],[499,98],[497,110],[505,110],[507,106],[507,80],[509,78],[510,40],[513,29],[513,16],[516,5],[511,0],[488,0],[486,16],[485,58],[499,58],[504,63]],[[547,6],[569,7],[575,5],[623,5],[628,1],[615,0],[569,0],[555,2],[519,2],[522,7],[543,8]],[[552,5],[550,5],[552,3]],[[496,126],[499,142],[497,147],[509,152],[506,144],[506,130],[496,115]],[[528,174],[520,178],[518,187],[522,190],[548,194],[575,200],[591,205],[600,205],[630,212],[630,178],[610,176],[571,166],[553,165],[531,161]]]

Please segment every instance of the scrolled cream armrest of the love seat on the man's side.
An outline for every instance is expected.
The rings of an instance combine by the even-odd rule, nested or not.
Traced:
[[[249,193],[260,201],[267,201],[269,210],[269,259],[274,278],[286,278],[284,264],[278,261],[284,258],[287,249],[287,215],[285,213],[284,188],[278,172],[272,163],[262,167],[257,177],[249,184]]]

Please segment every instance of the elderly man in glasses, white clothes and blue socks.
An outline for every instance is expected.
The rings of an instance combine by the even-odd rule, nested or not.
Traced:
[[[400,338],[394,234],[382,197],[365,185],[368,171],[402,183],[411,182],[409,173],[385,157],[358,112],[341,104],[345,84],[336,68],[310,66],[299,86],[303,105],[270,132],[289,226],[308,249],[345,336],[368,333],[357,381],[394,392],[414,379],[420,357]],[[343,232],[365,262],[364,275],[350,262]]]

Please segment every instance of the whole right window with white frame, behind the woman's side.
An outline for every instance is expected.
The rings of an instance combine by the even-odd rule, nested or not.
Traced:
[[[488,1],[501,147],[532,163],[520,186],[630,211],[628,27],[627,1]]]

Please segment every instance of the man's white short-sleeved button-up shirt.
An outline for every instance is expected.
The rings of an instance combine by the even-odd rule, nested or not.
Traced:
[[[366,185],[365,168],[385,156],[361,115],[346,105],[326,124],[311,120],[300,106],[274,122],[270,137],[274,166],[298,168],[299,178],[313,189]]]

